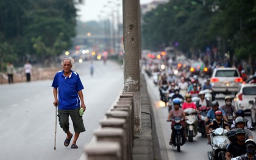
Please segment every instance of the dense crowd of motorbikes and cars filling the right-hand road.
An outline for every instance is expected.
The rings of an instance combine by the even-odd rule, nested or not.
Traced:
[[[254,77],[244,81],[235,67],[177,57],[143,58],[162,155],[175,160],[246,154],[246,140],[256,136]]]

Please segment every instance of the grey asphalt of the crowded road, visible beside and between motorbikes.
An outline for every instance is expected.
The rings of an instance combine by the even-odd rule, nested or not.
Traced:
[[[154,85],[153,78],[149,78],[145,75],[148,86],[149,97],[152,102],[152,109],[154,111],[155,125],[157,128],[158,143],[160,145],[161,158],[180,160],[180,159],[208,159],[207,152],[211,151],[210,145],[207,145],[207,138],[202,137],[201,133],[198,133],[194,137],[193,142],[186,142],[182,145],[181,151],[178,152],[177,148],[173,148],[169,145],[169,139],[171,137],[171,123],[166,122],[168,117],[168,108],[165,103],[160,101],[160,94],[158,87]],[[202,82],[202,79],[200,80]],[[232,95],[230,95],[232,96]],[[216,100],[219,102],[219,106],[224,105],[224,94],[218,94]],[[233,96],[232,96],[233,97]],[[249,119],[249,117],[246,117]],[[256,137],[255,131],[252,133]]]

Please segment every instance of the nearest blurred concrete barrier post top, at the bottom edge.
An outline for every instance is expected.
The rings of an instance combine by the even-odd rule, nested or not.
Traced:
[[[96,142],[85,148],[87,160],[123,160],[118,142]]]

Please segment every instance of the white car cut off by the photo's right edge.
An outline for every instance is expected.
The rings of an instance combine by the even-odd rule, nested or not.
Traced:
[[[256,83],[244,83],[241,85],[235,96],[234,103],[236,110],[251,111],[250,100],[255,100]]]

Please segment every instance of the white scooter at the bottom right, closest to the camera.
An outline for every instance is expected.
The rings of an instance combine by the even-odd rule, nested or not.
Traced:
[[[212,151],[208,151],[208,158],[210,160],[225,160],[227,144],[229,144],[229,139],[226,136],[227,132],[228,131],[224,130],[223,128],[217,128],[216,130],[212,131]]]

